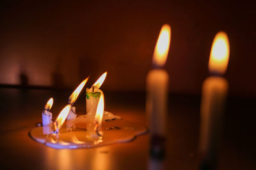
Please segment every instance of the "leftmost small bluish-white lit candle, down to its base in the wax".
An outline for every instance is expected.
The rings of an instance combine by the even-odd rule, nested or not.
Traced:
[[[42,112],[42,125],[44,126],[44,134],[49,134],[51,132],[52,124],[52,113],[50,112],[53,104],[53,98],[49,99],[45,104],[44,111]]]

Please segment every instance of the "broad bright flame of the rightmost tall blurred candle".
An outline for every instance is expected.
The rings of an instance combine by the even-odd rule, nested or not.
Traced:
[[[209,59],[209,71],[212,73],[225,73],[229,59],[229,42],[225,32],[218,32],[212,42]]]

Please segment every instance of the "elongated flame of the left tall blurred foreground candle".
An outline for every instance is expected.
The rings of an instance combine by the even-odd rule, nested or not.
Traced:
[[[156,66],[163,66],[166,62],[167,55],[170,48],[171,27],[164,24],[154,50],[153,63]]]

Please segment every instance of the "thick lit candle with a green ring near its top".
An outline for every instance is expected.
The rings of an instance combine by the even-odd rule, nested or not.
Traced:
[[[106,76],[107,72],[100,76],[100,78],[92,85],[92,88],[86,89],[86,118],[88,120],[88,124],[86,125],[87,131],[93,131],[93,122],[97,106],[99,103],[100,95],[103,94],[102,90],[100,90],[99,88],[104,82]]]

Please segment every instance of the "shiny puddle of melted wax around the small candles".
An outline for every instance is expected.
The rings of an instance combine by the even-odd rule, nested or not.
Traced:
[[[45,127],[35,127],[29,132],[31,138],[52,148],[93,148],[114,143],[132,141],[136,136],[145,134],[148,129],[140,124],[121,119],[109,112],[104,113],[102,136],[91,140],[86,138],[86,115],[66,121],[58,134],[44,134]]]

